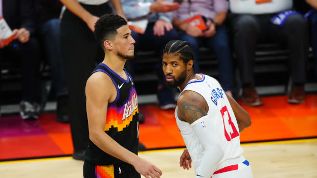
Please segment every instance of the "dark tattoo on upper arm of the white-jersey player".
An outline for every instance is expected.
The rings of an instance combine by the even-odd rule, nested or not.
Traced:
[[[193,123],[195,120],[207,115],[205,110],[187,101],[182,101],[179,106],[181,118],[186,120],[188,123]]]

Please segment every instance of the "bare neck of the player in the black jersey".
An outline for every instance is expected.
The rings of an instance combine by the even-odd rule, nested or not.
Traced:
[[[114,55],[112,53],[106,53],[105,58],[102,63],[106,64],[111,70],[120,74],[123,72],[123,67],[126,62],[126,59],[119,57],[118,55]]]

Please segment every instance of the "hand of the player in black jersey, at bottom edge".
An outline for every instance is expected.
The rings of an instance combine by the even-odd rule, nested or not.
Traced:
[[[133,164],[133,167],[146,178],[160,178],[160,175],[162,175],[162,171],[159,168],[140,157]]]

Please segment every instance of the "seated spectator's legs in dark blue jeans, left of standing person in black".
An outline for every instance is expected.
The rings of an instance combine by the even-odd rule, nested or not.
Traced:
[[[62,4],[56,0],[36,0],[36,14],[39,22],[39,37],[49,60],[53,78],[53,89],[57,96],[56,120],[69,122],[67,114],[67,87],[64,62],[60,49],[60,20]]]

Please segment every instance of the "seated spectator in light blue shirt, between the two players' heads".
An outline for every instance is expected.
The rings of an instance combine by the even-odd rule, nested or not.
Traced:
[[[163,0],[121,0],[122,9],[129,21],[145,20],[146,29],[144,33],[137,33],[132,29],[131,36],[135,40],[135,52],[138,50],[156,50],[159,56],[162,55],[163,48],[170,40],[178,39],[177,32],[172,26],[174,11],[179,8],[178,3]],[[165,13],[164,13],[165,12]],[[133,60],[127,61],[127,69],[133,75]],[[161,109],[173,109],[176,101],[172,91],[165,87],[165,77],[162,71],[162,64],[159,68],[160,84],[157,90],[157,98]]]

